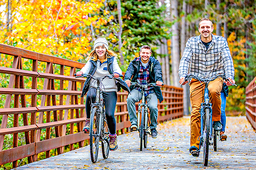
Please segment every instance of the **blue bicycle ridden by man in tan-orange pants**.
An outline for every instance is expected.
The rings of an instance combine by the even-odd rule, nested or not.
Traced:
[[[227,79],[223,74],[219,74],[215,77],[212,77],[211,79],[202,79],[193,74],[189,74],[185,77],[185,80],[181,83],[182,85],[185,81],[188,81],[194,78],[200,81],[200,83],[203,82],[205,84],[204,94],[203,94],[204,100],[201,103],[201,107],[199,110],[201,114],[201,135],[199,136],[200,138],[199,152],[201,150],[201,146],[203,146],[204,166],[208,165],[209,145],[214,145],[214,151],[215,149],[217,150],[217,131],[215,131],[214,128],[212,127],[212,124],[213,124],[212,123],[212,104],[210,103],[208,84],[210,81],[213,81],[219,77],[224,79],[225,81],[229,81],[229,79]],[[231,84],[235,85],[233,83]],[[212,140],[213,142],[210,142]]]

